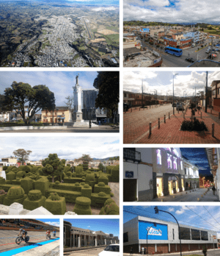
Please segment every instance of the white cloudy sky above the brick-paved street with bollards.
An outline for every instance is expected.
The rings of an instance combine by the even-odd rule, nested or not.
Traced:
[[[144,85],[144,93],[155,93],[158,95],[172,95],[173,74],[175,76],[175,96],[193,96],[195,87],[197,93],[205,88],[205,71],[124,71],[123,90],[128,90],[136,93],[142,92],[142,79]],[[208,86],[213,80],[220,80],[220,72],[208,72]]]

